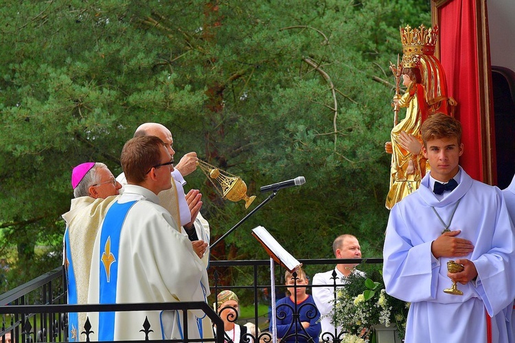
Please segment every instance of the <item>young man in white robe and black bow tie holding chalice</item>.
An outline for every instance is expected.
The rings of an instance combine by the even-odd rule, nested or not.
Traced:
[[[515,238],[501,190],[459,166],[455,118],[429,116],[422,140],[431,172],[393,206],[383,248],[387,293],[411,302],[404,342],[508,342]],[[448,293],[453,281],[463,295]]]

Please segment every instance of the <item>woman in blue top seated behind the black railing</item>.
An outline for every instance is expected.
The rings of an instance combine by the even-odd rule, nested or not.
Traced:
[[[281,342],[319,342],[320,312],[313,297],[306,293],[306,273],[299,268],[295,275],[286,271],[284,280],[290,296],[277,300],[277,338]],[[272,331],[272,323],[269,331]]]

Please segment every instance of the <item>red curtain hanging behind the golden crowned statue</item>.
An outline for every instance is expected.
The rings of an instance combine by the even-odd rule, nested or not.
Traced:
[[[464,131],[460,165],[470,177],[483,181],[476,1],[450,0],[439,8],[438,19],[440,63],[448,95],[458,102],[456,118]]]

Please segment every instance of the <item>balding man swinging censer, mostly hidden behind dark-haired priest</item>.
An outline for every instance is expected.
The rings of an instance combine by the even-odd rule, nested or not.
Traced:
[[[155,135],[165,142],[168,153],[174,157],[174,140],[172,133],[164,125],[155,122],[146,122],[138,126],[134,137],[145,135]],[[198,158],[195,152],[184,155],[179,164],[172,170],[172,187],[159,193],[159,202],[166,208],[176,222],[181,225],[181,232],[187,234],[196,252],[202,254],[202,261],[206,268],[209,266],[209,223],[202,217],[200,212],[202,207],[202,195],[198,190],[190,190],[185,194],[183,186],[186,181],[185,176],[190,175],[196,170]],[[122,173],[117,177],[122,184],[126,184],[126,179]],[[122,190],[123,192],[123,190]],[[207,328],[206,328],[207,329]]]

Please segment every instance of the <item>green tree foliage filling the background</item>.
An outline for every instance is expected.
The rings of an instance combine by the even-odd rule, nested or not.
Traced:
[[[241,176],[249,193],[306,177],[304,186],[282,190],[227,237],[214,258],[266,257],[251,237],[255,225],[297,258],[332,257],[332,240],[346,232],[358,236],[366,256],[378,256],[388,215],[383,146],[393,93],[372,78],[391,78],[389,60],[401,52],[398,27],[428,25],[429,2],[292,4],[3,5],[0,227],[8,234],[2,243],[45,241],[60,250],[71,168],[93,160],[117,175],[119,153],[135,128],[161,122],[174,135],[176,160],[196,151]],[[220,201],[202,173],[187,181],[203,192],[213,236],[247,213],[242,203]]]

